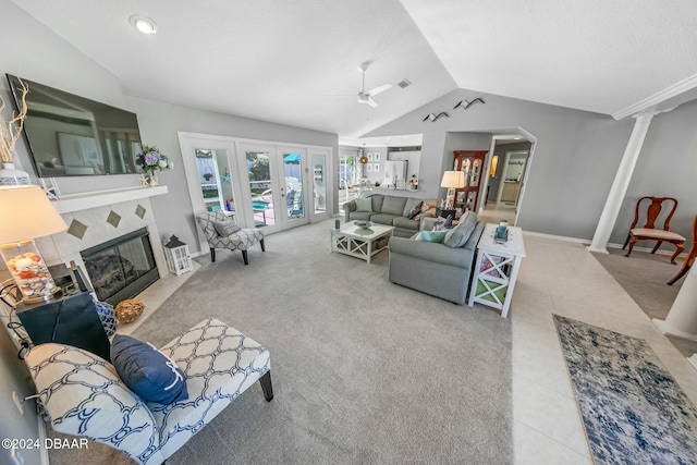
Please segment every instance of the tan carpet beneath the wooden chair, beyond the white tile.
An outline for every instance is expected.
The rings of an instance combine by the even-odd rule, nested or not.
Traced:
[[[592,255],[649,318],[665,319],[685,277],[673,285],[665,283],[681,269],[682,258],[672,265],[670,255],[635,250],[625,257],[626,250],[609,248],[608,252],[610,254]],[[697,353],[697,342],[668,338],[685,357]]]

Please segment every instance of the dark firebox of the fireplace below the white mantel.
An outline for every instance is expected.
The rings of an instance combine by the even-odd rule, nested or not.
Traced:
[[[147,228],[81,252],[97,298],[117,305],[159,279]]]

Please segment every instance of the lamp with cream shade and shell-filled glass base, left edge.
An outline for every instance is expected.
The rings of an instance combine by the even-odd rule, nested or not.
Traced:
[[[25,304],[51,298],[60,291],[34,238],[65,231],[68,225],[36,185],[0,187],[0,255]]]

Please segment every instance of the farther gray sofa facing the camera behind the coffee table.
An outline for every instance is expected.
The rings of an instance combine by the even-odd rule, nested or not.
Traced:
[[[421,221],[425,218],[435,217],[436,206],[438,205],[438,200],[424,200],[386,194],[368,194],[362,197],[362,199],[365,198],[370,199],[369,211],[367,208],[358,208],[356,200],[351,200],[343,205],[345,221],[364,220],[394,227],[393,236],[395,237],[411,237],[419,232]],[[412,209],[421,201],[429,206],[428,211],[423,211],[416,219],[409,219]],[[358,200],[358,204],[360,203],[362,200]],[[366,204],[365,201],[363,203]]]

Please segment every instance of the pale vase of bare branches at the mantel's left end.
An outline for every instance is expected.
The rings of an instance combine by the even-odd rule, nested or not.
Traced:
[[[4,121],[1,119],[2,110],[4,110],[4,100],[0,97],[0,159],[2,159],[2,169],[0,170],[0,185],[29,185],[32,180],[26,171],[14,168],[12,159],[14,158],[14,146],[24,129],[24,118],[26,117],[26,94],[29,91],[26,83],[22,83],[22,108],[19,113],[12,115],[12,119]]]

